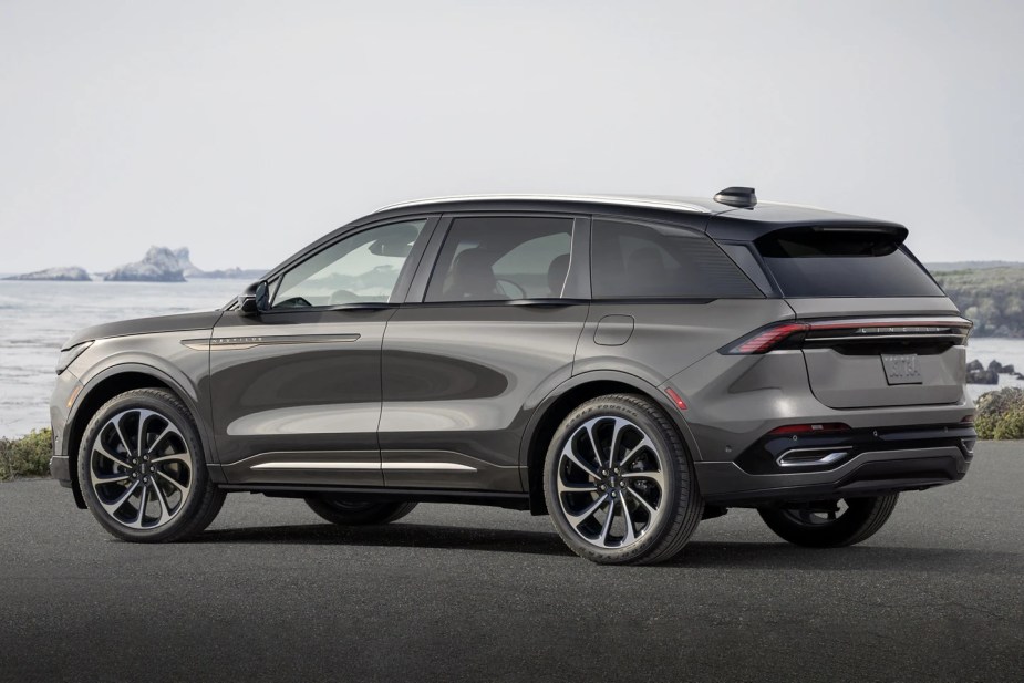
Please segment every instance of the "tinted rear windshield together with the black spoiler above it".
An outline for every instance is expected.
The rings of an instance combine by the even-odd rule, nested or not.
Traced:
[[[756,241],[784,297],[942,297],[931,276],[888,232],[777,230]]]

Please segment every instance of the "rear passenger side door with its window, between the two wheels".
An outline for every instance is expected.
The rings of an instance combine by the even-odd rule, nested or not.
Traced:
[[[380,444],[393,487],[520,491],[534,407],[572,373],[588,217],[446,216],[387,324]]]

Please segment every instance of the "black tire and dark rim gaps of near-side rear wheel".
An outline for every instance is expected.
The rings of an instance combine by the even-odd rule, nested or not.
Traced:
[[[616,422],[617,418],[627,423],[618,447],[614,443],[616,431],[622,423]],[[633,430],[634,441],[625,443]],[[600,449],[611,463],[608,469],[600,466],[594,469],[594,458],[587,463],[580,462],[580,458],[586,457],[587,448],[587,442],[580,439],[591,432],[597,439],[597,443],[590,442],[593,444],[591,453],[594,448]],[[650,439],[653,448],[644,451],[639,445],[637,439],[641,435]],[[577,446],[580,448],[578,453],[573,451]],[[566,449],[573,451],[577,457],[567,459]],[[630,460],[627,455],[630,451],[640,451],[641,455]],[[644,460],[638,462],[640,458]],[[617,462],[622,465],[621,473],[614,466]],[[655,465],[659,468],[656,470],[653,469]],[[652,474],[660,474],[660,482],[649,479],[647,487],[640,486]],[[593,486],[594,490],[577,493],[575,489],[566,489],[567,477],[575,477],[576,483],[588,489]],[[576,483],[571,485],[576,486]],[[601,565],[649,565],[672,558],[690,540],[704,510],[693,464],[675,426],[656,404],[644,396],[632,394],[599,396],[583,403],[562,421],[548,447],[544,491],[551,521],[566,545],[578,556]],[[614,497],[616,493],[619,494],[618,498]],[[606,494],[613,497],[607,499]],[[651,504],[656,503],[656,511],[644,510],[644,506],[640,505],[641,496],[649,503],[647,510],[651,510]],[[606,498],[608,511],[599,507],[585,518],[581,516],[583,513],[573,509],[573,506],[582,506],[590,510],[602,498]],[[576,525],[569,519],[573,513],[579,513],[576,515]],[[598,517],[601,514],[604,521],[600,526],[603,528],[600,532],[593,532],[598,538],[590,538],[586,525],[596,528],[601,522]],[[611,521],[608,520],[609,514],[612,516]],[[610,535],[617,524],[617,515],[620,528],[623,529],[618,546]],[[638,519],[643,524],[643,516],[647,516],[645,526],[638,531],[635,524]],[[624,530],[627,525],[631,531]],[[630,539],[627,534],[632,531],[635,531],[635,537]]]

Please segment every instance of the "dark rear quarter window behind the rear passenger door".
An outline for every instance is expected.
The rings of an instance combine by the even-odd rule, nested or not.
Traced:
[[[596,299],[763,298],[711,239],[695,230],[594,219],[591,288]]]

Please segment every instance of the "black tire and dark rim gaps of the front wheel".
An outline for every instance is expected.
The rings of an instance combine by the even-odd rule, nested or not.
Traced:
[[[122,431],[118,416],[124,416],[122,418],[132,424],[131,415],[133,413],[139,416],[137,423],[135,423],[137,426],[131,431],[123,430],[123,432],[141,434],[143,430],[138,423],[151,426],[155,423],[156,427],[166,430],[170,436],[161,441],[153,434],[146,433],[143,438],[148,441],[145,441],[143,447],[139,448],[138,437],[135,436],[133,441],[134,434],[126,433],[124,434],[124,439],[127,443],[125,444],[124,441],[117,442],[124,446],[123,451],[113,447],[111,441],[97,444],[97,439],[101,439],[101,437],[103,439],[112,438],[112,421],[117,420],[118,422],[118,426],[114,432]],[[142,415],[147,415],[148,417],[144,420]],[[173,438],[173,441],[166,443],[168,438]],[[162,454],[167,453],[167,449],[174,451],[175,443],[177,448],[184,449],[185,453],[177,456],[161,457]],[[148,448],[162,446],[163,449],[151,452],[147,445]],[[117,460],[123,462],[128,467],[114,464],[111,458],[97,455],[97,446],[110,452]],[[147,460],[148,465],[147,470],[139,470],[137,466],[132,465],[133,452],[139,456],[145,454],[145,460]],[[154,459],[153,463],[148,463],[151,456]],[[170,458],[169,460],[168,457]],[[135,459],[141,460],[143,457]],[[158,459],[167,462],[156,463],[155,460]],[[142,466],[145,467],[145,465]],[[123,484],[95,484],[96,480],[93,476],[101,476],[100,470],[104,470],[106,475],[114,478],[124,475],[125,482]],[[209,473],[206,468],[206,456],[196,424],[186,405],[166,390],[136,389],[114,396],[103,404],[85,427],[85,434],[79,449],[77,473],[82,496],[93,517],[110,534],[126,541],[170,542],[183,540],[208,527],[224,505],[225,491],[210,482]],[[128,478],[132,475],[135,476]],[[148,482],[149,477],[152,477],[153,483],[143,485],[142,479],[145,478]],[[175,487],[169,483],[172,478],[187,485],[187,493],[173,493]],[[134,496],[126,498],[118,510],[110,511],[104,508],[104,501],[100,499],[101,494],[97,490],[105,494],[112,488],[116,491],[117,486],[123,486],[123,490],[127,491],[133,484],[146,489],[147,497],[144,498],[139,491],[138,500],[135,500]],[[162,493],[157,493],[158,486],[163,487],[161,488]],[[172,491],[172,494],[168,496],[166,491]],[[157,499],[157,496],[162,495],[164,497]],[[170,506],[175,496],[180,497],[177,501],[177,507],[173,508],[173,515],[170,515]],[[139,505],[139,503],[142,504]],[[127,526],[130,522],[118,518],[121,513],[130,513],[132,505],[143,510],[138,517],[139,522],[143,525],[142,528],[131,528]],[[154,505],[161,517],[156,522],[146,527],[146,510]],[[125,511],[125,506],[128,508],[127,511]],[[164,521],[165,511],[168,513],[166,521]]]

